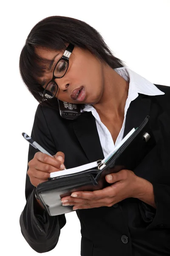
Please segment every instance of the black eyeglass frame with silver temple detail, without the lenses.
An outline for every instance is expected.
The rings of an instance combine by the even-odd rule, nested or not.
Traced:
[[[70,58],[71,53],[73,52],[73,49],[74,49],[74,45],[73,45],[73,44],[69,44],[68,47],[66,48],[64,54],[62,55],[62,57],[57,61],[57,64],[59,63],[59,61],[64,60],[64,61],[66,61],[66,62],[68,63],[68,66],[69,66],[69,58]],[[64,73],[63,76],[60,76],[60,77],[54,76],[54,71],[55,71],[55,68],[56,68],[57,64],[55,65],[54,70],[53,70],[53,77],[52,77],[52,79],[48,82],[48,84],[50,84],[51,82],[54,82],[54,83],[57,85],[57,83],[56,83],[56,81],[54,81],[54,79],[56,79],[56,78],[58,78],[58,79],[59,79],[59,78],[62,78],[63,76],[65,76],[65,73],[66,73],[67,70],[68,70],[68,67],[67,67],[67,69],[65,70],[65,73]],[[45,91],[46,91],[46,88],[48,87],[48,84],[45,86],[45,89],[44,89],[44,91],[43,91],[43,98],[45,98],[45,99],[47,99],[47,97],[45,97]],[[58,91],[58,85],[57,85],[57,91]],[[51,96],[50,99],[53,99],[53,98],[56,96],[57,91],[56,91],[55,94],[53,94],[53,96]],[[49,93],[50,93],[50,92],[49,92]],[[52,93],[51,93],[51,94],[52,94]],[[48,99],[49,99],[49,98],[48,98]]]

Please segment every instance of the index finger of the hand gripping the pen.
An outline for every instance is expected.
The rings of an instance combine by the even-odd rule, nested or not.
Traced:
[[[54,167],[60,169],[61,162],[59,160],[57,160],[55,157],[48,156],[47,154],[44,154],[41,152],[37,152],[35,154],[35,156],[36,156],[37,160],[39,160],[40,162],[49,164],[51,166],[54,166]]]

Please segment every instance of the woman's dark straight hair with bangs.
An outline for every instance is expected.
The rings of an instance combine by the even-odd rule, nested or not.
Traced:
[[[88,49],[113,69],[125,66],[123,61],[113,56],[99,32],[84,21],[62,16],[47,17],[31,29],[20,54],[20,74],[23,82],[41,104],[46,102],[53,105],[56,99],[42,98],[43,88],[37,78],[43,76],[48,61],[36,55],[34,47],[41,46],[60,51],[66,48],[67,43]]]

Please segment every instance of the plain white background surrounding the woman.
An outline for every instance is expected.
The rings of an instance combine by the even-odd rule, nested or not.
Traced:
[[[97,29],[113,53],[155,84],[170,86],[170,1],[3,1],[0,6],[0,233],[3,255],[38,255],[20,232],[25,206],[28,143],[37,102],[19,74],[19,56],[31,28],[41,19],[69,16]],[[79,256],[80,224],[66,215],[57,247],[48,255]],[[3,237],[3,239],[2,239]]]

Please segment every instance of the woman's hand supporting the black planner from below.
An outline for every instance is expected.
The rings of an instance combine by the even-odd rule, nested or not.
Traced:
[[[105,179],[108,183],[113,183],[113,185],[93,192],[73,192],[71,196],[62,198],[62,205],[73,205],[74,210],[103,206],[111,207],[125,198],[140,197],[144,185],[144,179],[136,176],[134,172],[129,170],[112,173],[107,175]]]

